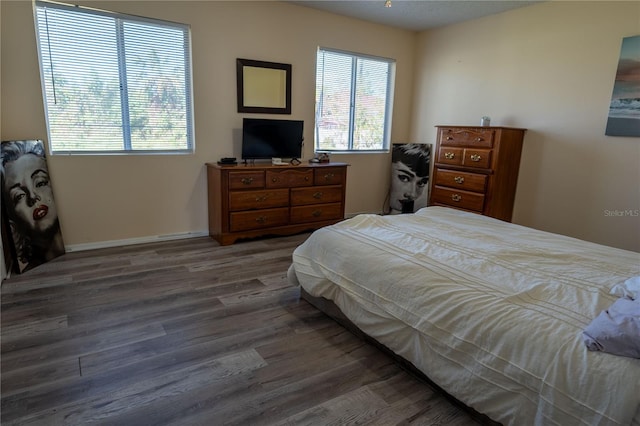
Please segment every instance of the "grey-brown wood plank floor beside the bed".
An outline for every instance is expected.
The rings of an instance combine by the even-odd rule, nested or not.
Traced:
[[[299,298],[307,236],[68,253],[5,280],[2,425],[477,425]]]

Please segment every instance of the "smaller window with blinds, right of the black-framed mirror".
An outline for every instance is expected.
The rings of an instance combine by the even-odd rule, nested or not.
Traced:
[[[395,61],[318,49],[316,151],[388,151]]]

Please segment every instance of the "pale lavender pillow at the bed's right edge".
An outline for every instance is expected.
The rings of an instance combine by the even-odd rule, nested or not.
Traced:
[[[640,358],[640,298],[621,298],[602,311],[582,333],[587,349]]]

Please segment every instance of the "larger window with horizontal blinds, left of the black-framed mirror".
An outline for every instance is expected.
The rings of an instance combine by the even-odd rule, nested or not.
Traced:
[[[52,153],[193,152],[187,25],[35,5]]]

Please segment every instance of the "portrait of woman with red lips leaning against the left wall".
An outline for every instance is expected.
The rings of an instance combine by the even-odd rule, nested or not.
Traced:
[[[0,143],[3,233],[16,272],[64,254],[44,144],[40,140]]]

